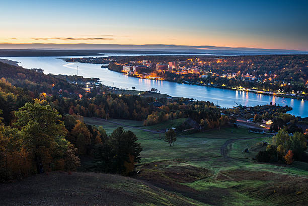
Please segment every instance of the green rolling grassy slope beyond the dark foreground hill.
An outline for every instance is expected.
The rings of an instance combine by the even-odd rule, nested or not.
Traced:
[[[115,123],[85,119],[103,125],[107,133]],[[135,178],[210,205],[305,205],[308,201],[308,164],[294,162],[264,164],[253,158],[265,150],[266,134],[247,128],[226,127],[193,134],[181,134],[172,147],[163,141],[166,128],[185,119],[152,126],[142,122],[112,120],[136,133],[143,148]],[[125,126],[126,125],[126,126]],[[142,129],[162,131],[152,133]],[[225,147],[227,154],[222,154]],[[245,148],[250,153],[243,153]]]

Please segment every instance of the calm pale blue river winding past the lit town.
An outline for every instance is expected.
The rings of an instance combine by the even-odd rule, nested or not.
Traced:
[[[156,54],[106,54],[105,56],[137,56],[137,55],[156,55]],[[159,54],[157,54],[159,55]],[[170,55],[170,54],[168,54]],[[78,57],[78,56],[73,56]],[[85,57],[85,56],[80,56]],[[94,56],[95,57],[95,56]],[[290,98],[281,98],[268,95],[254,94],[242,91],[233,91],[227,89],[211,88],[197,85],[178,84],[175,82],[144,80],[133,77],[128,77],[120,73],[109,71],[107,68],[101,68],[101,64],[65,62],[60,58],[69,57],[2,57],[14,61],[19,61],[19,65],[25,68],[42,68],[45,74],[62,74],[75,75],[77,66],[79,66],[79,75],[84,77],[98,77],[102,84],[115,86],[118,88],[136,87],[136,90],[147,91],[151,88],[156,88],[164,94],[174,97],[188,97],[196,100],[204,100],[214,102],[222,107],[237,106],[236,103],[245,106],[256,106],[269,104],[270,102],[288,105],[293,110],[288,113],[301,117],[308,116],[308,101],[296,100]],[[235,103],[236,102],[236,103]]]

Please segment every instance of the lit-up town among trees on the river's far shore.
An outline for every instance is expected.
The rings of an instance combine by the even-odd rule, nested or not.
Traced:
[[[65,60],[103,64],[111,71],[140,79],[307,99],[308,77],[304,71],[308,59],[306,55],[296,55],[294,62],[293,56],[109,56]],[[280,62],[283,64],[277,66]]]

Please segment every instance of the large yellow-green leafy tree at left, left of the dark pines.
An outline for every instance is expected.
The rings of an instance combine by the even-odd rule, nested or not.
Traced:
[[[67,130],[58,112],[46,102],[28,102],[15,116],[15,125],[21,128],[22,144],[32,157],[33,167],[42,163],[46,171],[59,169],[58,166],[64,169],[64,158],[71,146],[64,139]]]

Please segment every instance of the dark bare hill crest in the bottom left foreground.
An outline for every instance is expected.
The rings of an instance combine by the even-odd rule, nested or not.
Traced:
[[[0,205],[195,205],[176,193],[118,175],[57,172],[0,184]]]

